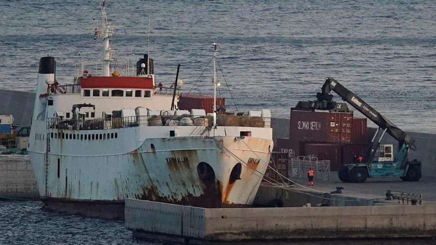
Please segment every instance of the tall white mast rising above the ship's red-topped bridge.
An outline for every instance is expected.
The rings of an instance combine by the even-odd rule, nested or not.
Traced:
[[[108,23],[108,18],[106,16],[106,1],[102,2],[100,6],[102,10],[102,27],[99,32],[101,39],[103,40],[104,53],[103,53],[103,64],[102,64],[102,76],[109,77],[109,62],[111,59],[111,49],[109,46],[109,39],[113,35],[113,27]]]

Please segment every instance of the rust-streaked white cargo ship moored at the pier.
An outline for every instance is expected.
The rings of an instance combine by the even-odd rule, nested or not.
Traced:
[[[81,60],[65,85],[54,57],[39,62],[28,151],[45,208],[116,218],[127,197],[251,205],[273,147],[270,110],[218,114],[215,67],[212,107],[177,109],[180,86],[156,85],[147,54],[116,62],[104,1],[101,12],[103,61]]]

